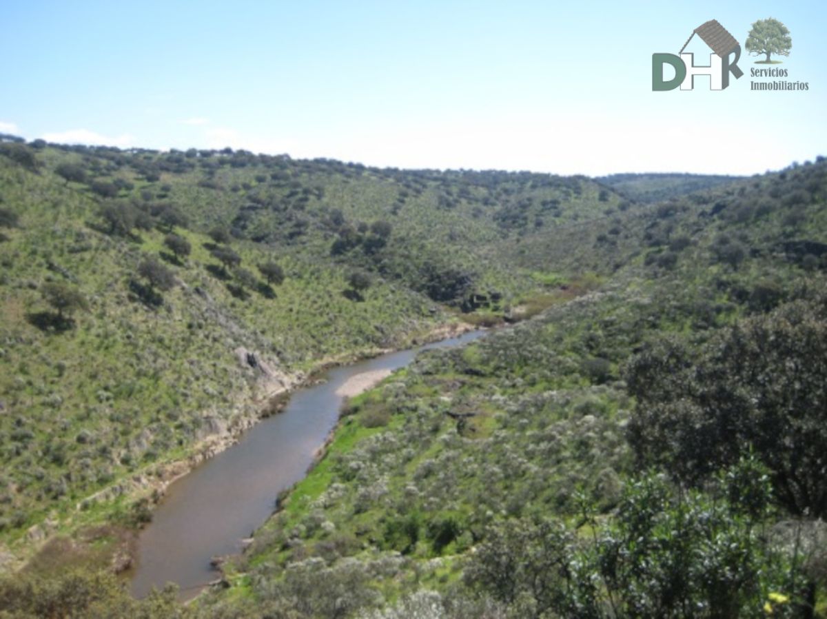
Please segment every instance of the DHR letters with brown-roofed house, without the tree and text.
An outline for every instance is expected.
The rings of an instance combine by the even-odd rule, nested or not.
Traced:
[[[707,66],[696,66],[694,54],[684,54],[686,46],[692,37],[698,35],[710,46],[712,54],[710,54],[710,64]],[[729,56],[735,54],[734,60],[730,60]],[[739,79],[743,75],[743,71],[738,68],[738,60],[741,57],[741,46],[735,37],[721,26],[714,19],[698,26],[689,38],[681,47],[679,55],[674,54],[653,54],[652,55],[652,89],[653,90],[674,90],[678,86],[681,90],[691,90],[695,85],[696,75],[710,76],[710,89],[723,90],[729,86],[729,74],[733,74],[735,79]],[[665,65],[672,65],[675,70],[675,77],[672,79],[663,79],[663,67]]]

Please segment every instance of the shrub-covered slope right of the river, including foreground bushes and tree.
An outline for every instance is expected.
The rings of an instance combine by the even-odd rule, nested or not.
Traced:
[[[823,612],[825,189],[819,161],[579,229],[614,276],[352,401],[201,612]]]

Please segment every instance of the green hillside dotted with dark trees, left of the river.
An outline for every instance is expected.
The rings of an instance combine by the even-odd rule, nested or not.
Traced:
[[[9,564],[101,524],[122,554],[182,463],[319,367],[541,310],[520,243],[617,202],[584,178],[11,138],[0,153]]]

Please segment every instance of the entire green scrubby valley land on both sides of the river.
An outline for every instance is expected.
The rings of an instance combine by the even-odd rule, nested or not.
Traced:
[[[582,177],[4,148],[0,535],[21,556],[50,531],[93,540],[61,558],[52,535],[8,607],[70,584],[124,617],[823,616],[823,159],[632,199]],[[174,286],[136,275],[150,256]],[[60,316],[49,281],[86,303]],[[182,607],[41,580],[108,566],[120,534],[89,531],[151,517],[140,493],[84,497],[149,488],[320,362],[457,316],[533,319],[351,400],[224,588]]]

